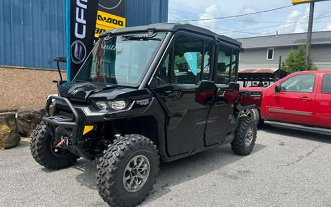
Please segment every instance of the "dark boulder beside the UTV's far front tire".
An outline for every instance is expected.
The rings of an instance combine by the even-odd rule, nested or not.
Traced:
[[[40,107],[22,107],[17,111],[18,130],[22,136],[29,136],[41,122],[45,109]]]

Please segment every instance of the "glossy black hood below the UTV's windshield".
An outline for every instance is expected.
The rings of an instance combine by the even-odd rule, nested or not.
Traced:
[[[101,92],[103,90],[117,88],[114,85],[91,83],[91,82],[66,82],[59,86],[59,93],[61,96],[68,99],[86,100],[92,94]]]

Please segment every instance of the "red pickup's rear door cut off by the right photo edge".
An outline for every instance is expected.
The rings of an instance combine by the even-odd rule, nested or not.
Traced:
[[[320,75],[314,104],[313,125],[331,128],[331,74]]]

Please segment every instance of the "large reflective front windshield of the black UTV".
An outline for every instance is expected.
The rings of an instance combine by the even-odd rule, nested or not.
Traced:
[[[138,86],[166,33],[135,33],[99,39],[74,81]]]

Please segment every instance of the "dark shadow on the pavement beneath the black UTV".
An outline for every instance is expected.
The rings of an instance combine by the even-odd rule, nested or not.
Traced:
[[[260,151],[265,146],[255,144],[252,154]],[[179,159],[170,163],[161,163],[160,173],[157,178],[154,189],[151,195],[143,204],[148,204],[151,201],[169,193],[170,187],[178,185],[182,182],[190,181],[199,178],[213,171],[217,171],[222,167],[234,163],[245,156],[234,155],[230,145],[220,146],[196,155],[192,155],[183,159]],[[76,181],[83,186],[91,189],[96,189],[96,166],[98,161],[88,161],[79,159],[73,166],[82,173],[76,177]],[[231,179],[238,179],[235,176]]]

